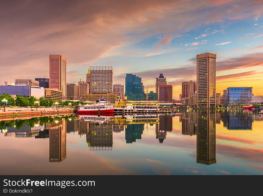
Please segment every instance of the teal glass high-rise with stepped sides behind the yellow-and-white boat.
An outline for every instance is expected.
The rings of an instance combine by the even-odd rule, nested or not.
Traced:
[[[142,89],[142,78],[126,73],[125,77],[125,96],[129,101],[145,100],[145,95]]]

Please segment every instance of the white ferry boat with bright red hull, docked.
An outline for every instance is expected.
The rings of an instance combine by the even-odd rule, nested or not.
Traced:
[[[114,107],[103,102],[96,101],[95,104],[83,105],[79,107],[79,113],[113,113]]]

